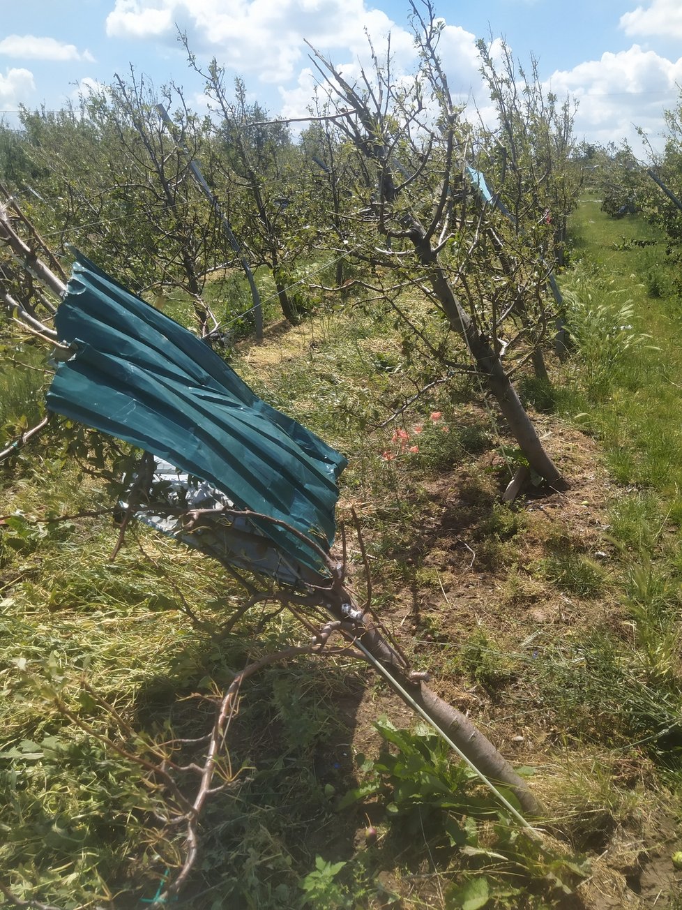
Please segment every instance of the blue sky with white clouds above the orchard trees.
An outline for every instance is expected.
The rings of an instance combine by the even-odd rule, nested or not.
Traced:
[[[352,71],[366,53],[364,27],[379,46],[390,30],[396,64],[408,71],[408,8],[407,0],[0,0],[0,109],[59,107],[130,64],[156,85],[184,86],[201,108],[177,24],[200,61],[216,56],[272,114],[301,115],[314,81],[303,39]],[[660,142],[663,109],[682,85],[680,0],[436,0],[436,13],[462,98],[476,96],[485,110],[474,42],[502,35],[522,62],[537,56],[548,87],[577,97],[579,136],[637,141],[637,125]]]

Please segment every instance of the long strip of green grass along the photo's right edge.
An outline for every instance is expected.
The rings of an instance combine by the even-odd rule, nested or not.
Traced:
[[[574,682],[562,678],[560,660],[552,660],[554,671],[547,670],[539,682],[565,720],[572,714],[574,723],[580,717],[587,721],[606,711],[609,736],[622,724],[622,735],[647,740],[664,763],[678,767],[678,279],[667,241],[639,217],[614,222],[588,202],[574,217],[573,237],[574,268],[564,285],[569,298],[576,298],[569,299],[569,312],[573,306],[578,350],[559,408],[599,440],[621,488],[609,505],[606,540],[617,548],[609,587],[625,615],[617,629],[577,636],[573,647],[585,655],[586,673],[581,662],[571,670],[579,692],[575,702]],[[654,242],[639,247],[637,239]],[[618,328],[624,315],[627,329]],[[597,593],[604,583],[602,566],[567,551],[550,556],[544,571],[566,591]],[[608,695],[612,686],[618,703]]]

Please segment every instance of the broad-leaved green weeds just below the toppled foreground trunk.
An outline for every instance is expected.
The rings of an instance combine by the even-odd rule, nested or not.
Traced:
[[[514,906],[540,906],[540,896],[570,894],[588,875],[582,857],[557,853],[510,824],[495,796],[476,785],[476,773],[453,763],[446,744],[430,729],[398,730],[386,720],[375,726],[384,740],[382,750],[377,759],[357,756],[366,783],[349,791],[340,807],[378,795],[396,850],[402,843],[413,849],[422,844],[442,868],[456,870],[446,906],[485,906],[510,897]],[[474,873],[476,878],[469,877]],[[514,887],[508,885],[510,877]]]

